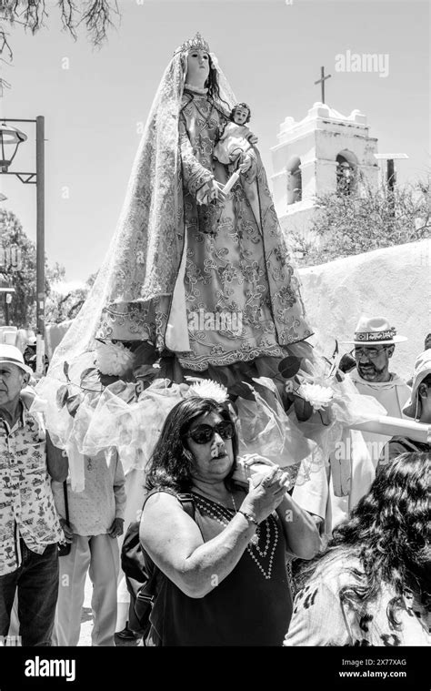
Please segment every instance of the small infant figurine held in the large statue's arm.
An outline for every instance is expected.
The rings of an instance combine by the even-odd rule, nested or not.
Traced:
[[[222,137],[216,144],[214,156],[220,163],[238,164],[238,170],[246,173],[251,166],[251,151],[257,142],[246,123],[251,117],[250,107],[246,103],[237,103],[231,110],[230,122],[226,124]],[[235,165],[236,168],[236,165]]]

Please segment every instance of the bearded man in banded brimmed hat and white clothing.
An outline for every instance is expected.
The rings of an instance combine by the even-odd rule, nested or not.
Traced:
[[[401,377],[389,371],[389,361],[396,343],[405,340],[405,336],[396,335],[396,330],[386,319],[362,316],[354,339],[345,341],[355,346],[352,355],[356,360],[356,369],[346,376],[355,383],[359,393],[376,398],[386,408],[387,414],[396,418],[403,417],[403,406],[410,395],[410,388]],[[347,495],[335,487],[330,468],[312,473],[306,483],[295,487],[293,497],[296,503],[316,517],[322,532],[324,529],[326,534],[332,533],[368,492],[376,476],[380,453],[388,440],[388,436],[381,434],[345,430],[340,448],[334,455],[336,461],[350,463],[350,492]]]

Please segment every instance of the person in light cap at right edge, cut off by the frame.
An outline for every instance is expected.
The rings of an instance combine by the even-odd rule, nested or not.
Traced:
[[[431,425],[431,349],[421,352],[416,358],[412,393],[406,401],[403,412],[406,417],[413,418],[416,422]],[[392,462],[396,456],[406,452],[429,453],[431,443],[416,442],[402,436],[392,437],[380,455],[376,473],[380,473],[382,468]]]

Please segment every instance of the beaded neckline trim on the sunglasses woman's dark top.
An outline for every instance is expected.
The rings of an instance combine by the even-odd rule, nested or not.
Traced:
[[[223,506],[222,504],[213,502],[213,500],[207,500],[201,494],[193,493],[193,496],[195,497],[197,508],[203,510],[204,513],[210,516],[210,518],[214,518],[214,520],[223,525],[224,528],[232,520],[230,513],[237,513],[236,503],[232,493],[231,497],[234,505],[233,509],[227,509],[226,506]],[[260,546],[261,542],[263,543],[262,547]],[[246,546],[246,552],[251,556],[252,560],[256,564],[259,571],[264,575],[266,580],[271,578],[277,542],[278,525],[276,523],[276,518],[271,514],[266,518],[266,521],[260,523],[259,527],[256,528],[256,535]],[[263,560],[266,558],[268,560],[268,565],[265,568]]]

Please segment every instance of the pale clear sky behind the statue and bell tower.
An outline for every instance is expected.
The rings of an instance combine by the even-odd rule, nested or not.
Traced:
[[[78,5],[80,3],[77,3]],[[426,178],[430,161],[429,5],[423,2],[319,0],[118,0],[121,20],[100,49],[84,29],[76,42],[61,31],[58,9],[47,2],[46,28],[35,36],[12,30],[12,66],[1,64],[11,85],[0,116],[45,116],[45,251],[63,264],[70,281],[100,266],[125,197],[135,150],[161,76],[175,48],[200,31],[216,54],[238,100],[252,107],[250,127],[268,177],[271,147],[287,116],[306,117],[320,100],[368,118],[378,151],[403,152],[403,184]],[[342,72],[339,56],[373,53],[386,61],[378,72]],[[387,57],[385,57],[387,56]],[[382,70],[383,71],[383,70]],[[35,170],[35,128],[15,170]],[[35,186],[0,176],[4,208],[35,239]]]

